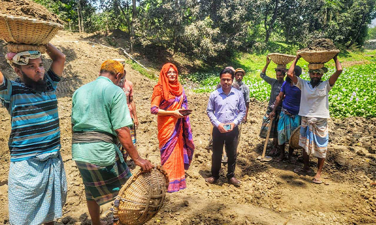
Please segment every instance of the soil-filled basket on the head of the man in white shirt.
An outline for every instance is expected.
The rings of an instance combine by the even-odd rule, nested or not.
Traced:
[[[304,60],[309,62],[309,69],[324,67],[324,63],[332,59],[339,50],[330,39],[320,38],[313,41],[308,47],[297,52]]]

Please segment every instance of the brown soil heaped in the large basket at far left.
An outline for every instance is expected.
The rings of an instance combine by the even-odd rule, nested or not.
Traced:
[[[64,21],[57,15],[51,13],[44,6],[30,0],[0,0],[0,13],[64,24]]]

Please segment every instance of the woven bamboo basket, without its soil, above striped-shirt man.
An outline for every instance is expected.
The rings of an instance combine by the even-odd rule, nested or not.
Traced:
[[[0,14],[0,38],[6,42],[47,44],[62,28],[55,22]]]

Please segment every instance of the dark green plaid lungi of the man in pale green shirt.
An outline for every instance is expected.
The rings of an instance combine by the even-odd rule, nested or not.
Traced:
[[[121,162],[116,155],[115,163],[100,166],[83,161],[76,161],[85,185],[87,200],[95,200],[99,205],[115,199],[121,186],[132,175],[126,162]]]

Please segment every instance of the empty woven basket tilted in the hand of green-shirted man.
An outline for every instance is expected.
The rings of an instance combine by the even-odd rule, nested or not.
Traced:
[[[162,208],[168,175],[161,166],[150,172],[139,170],[120,189],[114,202],[114,224],[140,225]]]

